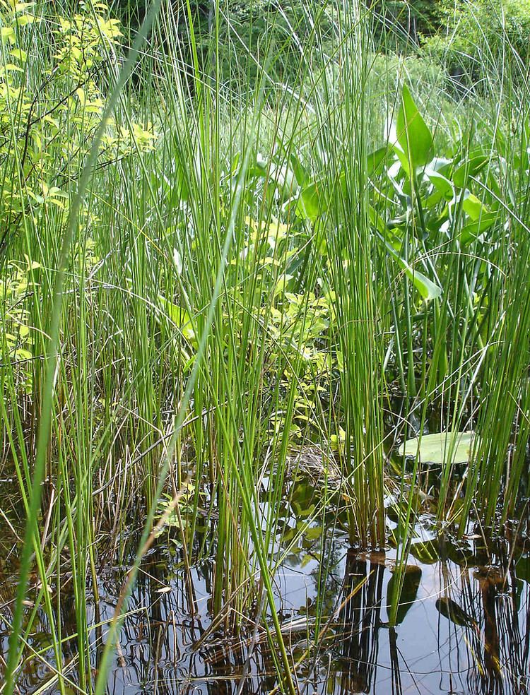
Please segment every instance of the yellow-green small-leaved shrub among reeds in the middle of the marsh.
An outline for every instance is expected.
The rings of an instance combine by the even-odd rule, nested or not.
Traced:
[[[248,235],[243,257],[232,263],[237,262],[244,274],[258,275],[261,292],[256,311],[264,326],[266,352],[275,356],[267,364],[271,379],[277,375],[278,360],[283,364],[281,386],[285,392],[293,383],[297,385],[290,432],[293,439],[302,441],[318,417],[319,399],[324,392],[329,393],[331,371],[336,368],[329,347],[334,298],[322,283],[314,288],[300,284],[295,268],[300,265],[305,237],[297,233],[296,222],[288,224],[274,218],[257,222],[247,217],[245,225]],[[271,433],[284,426],[282,412],[276,413]]]

